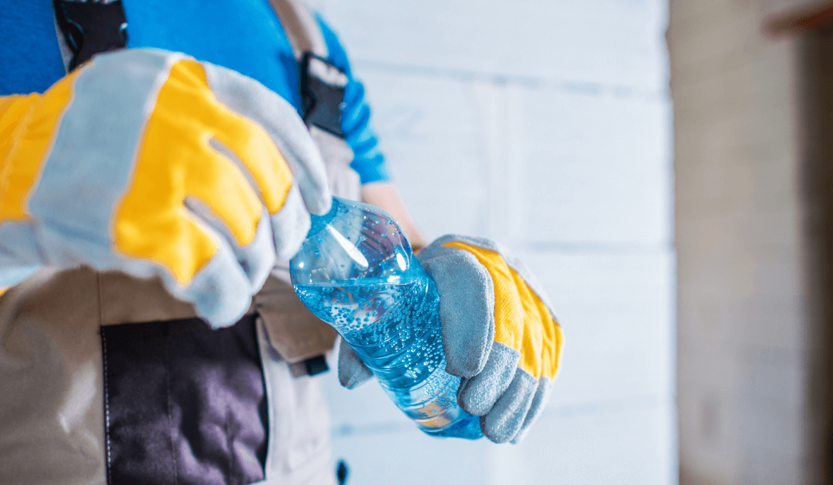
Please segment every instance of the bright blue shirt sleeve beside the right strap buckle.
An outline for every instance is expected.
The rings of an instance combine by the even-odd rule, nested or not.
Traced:
[[[347,144],[353,149],[351,167],[357,171],[362,184],[368,182],[389,181],[385,156],[379,151],[379,140],[371,125],[370,106],[365,101],[365,90],[361,82],[357,81],[350,68],[347,52],[332,29],[327,26],[322,17],[317,17],[321,26],[327,50],[330,52],[329,62],[347,74],[347,87],[344,88],[344,108],[342,109],[342,131]]]

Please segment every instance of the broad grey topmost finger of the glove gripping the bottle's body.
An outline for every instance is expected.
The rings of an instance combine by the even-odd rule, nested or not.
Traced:
[[[446,370],[460,377],[481,373],[495,339],[491,276],[474,255],[464,250],[431,244],[417,258],[440,295]]]

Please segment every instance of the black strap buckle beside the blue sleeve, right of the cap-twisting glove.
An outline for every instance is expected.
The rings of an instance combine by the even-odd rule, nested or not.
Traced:
[[[327,59],[305,52],[301,59],[301,107],[307,126],[344,138],[342,107],[347,75]]]

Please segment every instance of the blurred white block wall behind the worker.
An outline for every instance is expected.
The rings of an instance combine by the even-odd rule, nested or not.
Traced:
[[[566,334],[517,446],[436,440],[327,376],[348,483],[676,483],[661,0],[324,0],[430,237],[501,240]]]

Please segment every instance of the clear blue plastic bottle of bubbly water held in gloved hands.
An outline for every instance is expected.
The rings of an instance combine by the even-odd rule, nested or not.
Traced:
[[[408,418],[432,436],[481,438],[446,372],[434,280],[375,205],[333,198],[290,262],[295,292],[356,351]]]

